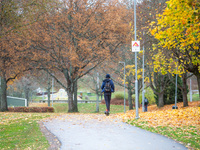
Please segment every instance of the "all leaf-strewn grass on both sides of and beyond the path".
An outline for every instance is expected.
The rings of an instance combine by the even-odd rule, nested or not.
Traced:
[[[189,102],[189,107],[172,110],[172,105],[158,108],[148,107],[148,112],[141,112],[140,119],[135,120],[135,110],[124,114],[124,106],[111,105],[111,114],[118,114],[125,122],[151,132],[168,136],[180,141],[189,149],[200,149],[200,101]],[[47,106],[45,103],[30,106]],[[68,110],[67,104],[54,103],[55,113],[10,113],[0,112],[0,149],[35,149],[43,150],[49,147],[48,141],[42,135],[38,121],[43,118],[55,117]],[[96,113],[95,103],[78,104],[80,113]],[[104,113],[105,104],[99,105],[99,113]],[[128,110],[128,107],[126,107]]]

